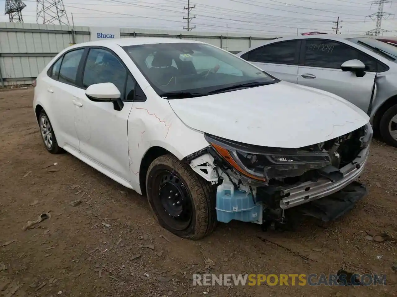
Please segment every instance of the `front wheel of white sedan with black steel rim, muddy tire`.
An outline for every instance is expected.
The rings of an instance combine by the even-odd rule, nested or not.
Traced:
[[[215,188],[175,156],[160,156],[150,164],[146,193],[154,218],[173,234],[199,240],[215,229]]]

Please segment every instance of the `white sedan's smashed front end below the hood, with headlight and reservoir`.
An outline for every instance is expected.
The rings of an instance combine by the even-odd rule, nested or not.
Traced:
[[[192,156],[190,164],[206,180],[219,184],[218,221],[282,222],[284,211],[295,207],[329,221],[366,194],[366,188],[355,181],[368,159],[372,135],[368,123],[296,149],[258,147],[206,135],[210,148]]]

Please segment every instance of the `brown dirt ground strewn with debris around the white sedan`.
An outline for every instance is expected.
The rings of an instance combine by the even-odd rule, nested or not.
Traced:
[[[297,231],[282,233],[232,222],[193,242],[160,228],[145,197],[67,153],[46,152],[32,101],[31,88],[0,91],[0,296],[396,295],[395,148],[373,141],[360,178],[370,194],[338,221],[304,219]],[[45,213],[48,219],[23,229]],[[366,239],[368,232],[389,237],[375,242]],[[387,284],[192,285],[193,273],[329,274],[341,268],[387,274]]]

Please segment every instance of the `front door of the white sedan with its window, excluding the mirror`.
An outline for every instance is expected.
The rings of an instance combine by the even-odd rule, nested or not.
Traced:
[[[91,48],[83,72],[83,87],[75,100],[80,105],[76,128],[81,154],[108,171],[130,181],[127,120],[132,102],[115,110],[112,102],[94,102],[85,95],[92,84],[112,82],[124,98],[127,70],[114,53]]]

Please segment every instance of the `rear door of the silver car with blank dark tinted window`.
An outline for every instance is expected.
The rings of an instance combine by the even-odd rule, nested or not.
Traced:
[[[273,76],[297,83],[300,40],[287,40],[252,49],[241,58],[260,67]]]

